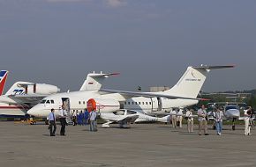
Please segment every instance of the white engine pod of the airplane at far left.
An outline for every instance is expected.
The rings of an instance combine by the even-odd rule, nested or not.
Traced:
[[[58,87],[51,84],[30,84],[26,86],[26,94],[50,95],[60,91]]]

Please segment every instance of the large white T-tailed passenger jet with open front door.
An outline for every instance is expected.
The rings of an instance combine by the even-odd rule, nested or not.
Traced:
[[[168,91],[159,92],[101,90],[101,82],[93,79],[87,82],[87,89],[85,91],[50,95],[44,98],[41,104],[35,105],[27,113],[35,117],[47,118],[51,108],[58,110],[59,107],[64,104],[68,113],[71,114],[71,110],[84,110],[87,108],[87,101],[91,98],[94,99],[97,106],[96,110],[99,113],[113,113],[120,109],[142,110],[147,113],[169,112],[172,107],[184,107],[198,103],[200,98],[197,98],[197,95],[210,69],[233,67],[234,66],[188,67],[174,87]],[[102,76],[111,76],[111,74],[97,75],[101,78]]]

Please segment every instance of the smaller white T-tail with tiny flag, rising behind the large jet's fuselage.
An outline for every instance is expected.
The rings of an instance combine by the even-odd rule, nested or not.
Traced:
[[[102,74],[101,73],[89,73],[84,84],[79,91],[99,91],[102,88],[102,83],[105,78],[109,76],[115,76],[119,73]]]

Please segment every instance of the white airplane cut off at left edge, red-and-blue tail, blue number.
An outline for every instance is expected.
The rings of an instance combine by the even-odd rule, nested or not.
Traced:
[[[17,82],[3,95],[7,75],[6,70],[0,72],[0,117],[26,117],[28,109],[39,103],[42,98],[59,91],[59,88],[51,84]]]

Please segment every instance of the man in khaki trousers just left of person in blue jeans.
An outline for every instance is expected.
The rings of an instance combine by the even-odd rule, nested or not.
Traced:
[[[204,134],[207,134],[207,111],[205,105],[202,105],[198,110],[199,116],[199,135],[201,135],[201,131],[204,130]]]

